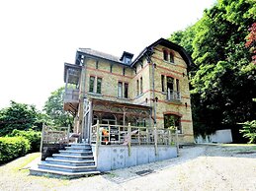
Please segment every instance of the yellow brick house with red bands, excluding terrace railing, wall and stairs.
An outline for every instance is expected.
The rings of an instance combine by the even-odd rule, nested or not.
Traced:
[[[75,117],[75,131],[90,139],[90,125],[177,126],[181,143],[194,143],[185,50],[160,38],[132,60],[79,48],[75,64],[65,63],[64,109]],[[72,85],[72,86],[70,86]],[[85,105],[91,105],[85,111]]]

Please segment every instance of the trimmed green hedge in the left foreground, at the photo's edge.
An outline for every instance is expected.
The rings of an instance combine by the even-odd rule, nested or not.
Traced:
[[[0,163],[25,156],[30,142],[24,137],[0,137]]]

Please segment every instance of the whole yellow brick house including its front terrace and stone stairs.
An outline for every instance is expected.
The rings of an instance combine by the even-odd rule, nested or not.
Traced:
[[[46,158],[42,169],[31,173],[54,169],[50,172],[77,177],[177,157],[173,143],[194,143],[192,65],[181,46],[164,38],[135,58],[127,51],[116,57],[79,48],[75,64],[64,64],[63,101],[82,143]]]

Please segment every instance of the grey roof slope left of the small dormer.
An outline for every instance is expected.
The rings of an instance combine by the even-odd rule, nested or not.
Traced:
[[[94,50],[94,49],[91,49],[91,48],[79,48],[78,51],[82,52],[82,53],[85,53],[85,54],[88,54],[88,55],[91,55],[91,56],[96,56],[96,57],[99,57],[99,58],[103,58],[103,59],[106,59],[106,60],[110,60],[110,61],[114,61],[114,62],[117,62],[117,63],[120,63],[120,64],[124,64],[123,62],[120,61],[120,57],[118,57],[118,56],[107,54],[107,53],[104,53],[104,52],[101,52],[101,51],[98,51],[98,50]]]

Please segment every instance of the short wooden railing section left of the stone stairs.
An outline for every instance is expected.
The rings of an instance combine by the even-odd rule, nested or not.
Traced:
[[[68,144],[69,127],[49,127],[43,125],[41,151],[45,144]]]

